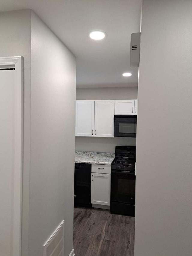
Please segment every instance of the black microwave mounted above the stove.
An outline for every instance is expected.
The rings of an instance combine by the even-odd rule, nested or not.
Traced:
[[[137,116],[115,115],[114,137],[136,137]]]

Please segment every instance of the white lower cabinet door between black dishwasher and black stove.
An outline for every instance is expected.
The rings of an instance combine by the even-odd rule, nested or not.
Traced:
[[[110,205],[111,174],[91,173],[91,203]]]

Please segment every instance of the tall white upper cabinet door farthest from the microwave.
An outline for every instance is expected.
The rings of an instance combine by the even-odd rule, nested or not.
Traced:
[[[94,136],[95,101],[76,101],[75,136]]]

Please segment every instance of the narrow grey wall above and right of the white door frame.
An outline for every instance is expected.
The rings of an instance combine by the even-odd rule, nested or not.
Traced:
[[[24,150],[22,188],[22,251],[28,248],[30,105],[31,105],[31,11],[0,12],[0,57],[24,57]]]

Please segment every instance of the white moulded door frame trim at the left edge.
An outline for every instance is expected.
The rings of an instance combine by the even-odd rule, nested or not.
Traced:
[[[23,57],[1,57],[1,68],[15,68],[15,130],[14,130],[14,188],[13,188],[13,256],[21,255],[22,168],[23,168]],[[0,71],[1,72],[1,71]]]

